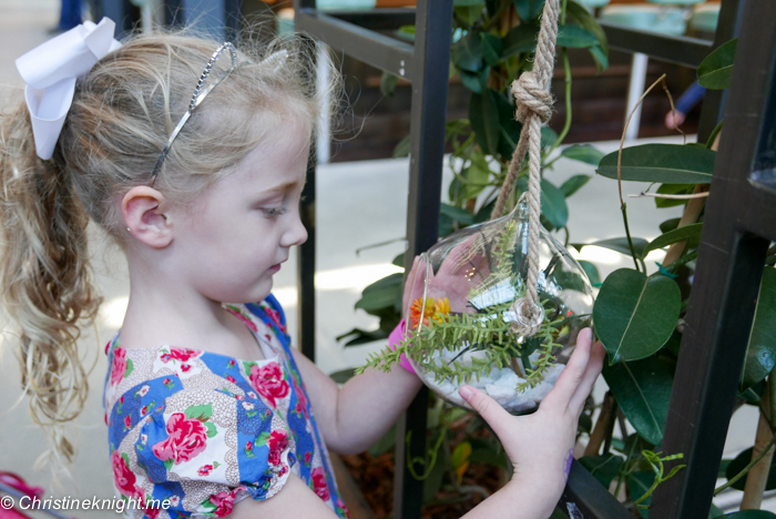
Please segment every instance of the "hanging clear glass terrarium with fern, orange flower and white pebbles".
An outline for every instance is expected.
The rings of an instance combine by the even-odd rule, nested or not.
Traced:
[[[539,307],[525,312],[528,204],[459,231],[423,253],[410,273],[401,349],[423,383],[460,407],[463,384],[513,414],[534,410],[590,326],[584,269],[540,228]],[[530,317],[524,317],[525,315]]]

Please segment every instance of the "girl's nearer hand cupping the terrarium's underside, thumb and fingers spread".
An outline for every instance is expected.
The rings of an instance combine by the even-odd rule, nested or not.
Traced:
[[[592,332],[580,332],[576,348],[539,410],[511,416],[484,393],[463,386],[459,393],[493,428],[514,466],[512,481],[537,489],[552,506],[560,498],[571,469],[576,424],[584,401],[601,373],[605,350],[592,346]]]

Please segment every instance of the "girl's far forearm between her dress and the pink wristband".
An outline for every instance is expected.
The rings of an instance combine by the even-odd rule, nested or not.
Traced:
[[[369,369],[338,387],[307,357],[294,354],[326,446],[344,455],[377,441],[422,385],[417,375],[394,366],[390,373]]]

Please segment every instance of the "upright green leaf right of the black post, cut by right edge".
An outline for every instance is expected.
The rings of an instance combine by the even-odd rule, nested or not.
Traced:
[[[776,269],[765,268],[746,349],[742,389],[763,380],[776,366]]]

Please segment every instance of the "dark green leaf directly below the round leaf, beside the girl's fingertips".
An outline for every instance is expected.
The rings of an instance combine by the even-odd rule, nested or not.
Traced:
[[[598,322],[596,322],[598,327]],[[663,441],[673,375],[655,357],[604,365],[603,378],[639,435],[653,445]]]

